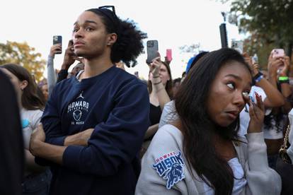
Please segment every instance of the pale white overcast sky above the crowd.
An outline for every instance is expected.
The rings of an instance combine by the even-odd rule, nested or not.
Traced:
[[[158,40],[161,57],[166,55],[166,49],[172,49],[173,78],[181,76],[188,59],[194,55],[180,52],[180,46],[200,43],[200,49],[205,51],[221,48],[219,25],[224,21],[221,11],[229,11],[229,4],[216,0],[4,0],[0,42],[27,42],[47,60],[53,35],[62,35],[62,54],[54,59],[54,67],[60,69],[78,16],[88,8],[105,5],[115,6],[117,16],[134,20],[139,30],[147,33],[144,46],[147,40]],[[241,39],[235,25],[227,24],[227,33],[229,44],[231,39]],[[146,54],[141,54],[137,66],[126,71],[139,71],[139,76],[147,79],[149,67],[145,60]]]

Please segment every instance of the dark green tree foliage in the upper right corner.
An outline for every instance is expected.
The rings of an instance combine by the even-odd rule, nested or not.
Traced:
[[[292,54],[293,1],[292,0],[222,0],[231,4],[230,23],[238,25],[239,32],[249,33],[244,50],[251,56],[258,54],[260,66],[266,69],[270,51],[283,48]]]

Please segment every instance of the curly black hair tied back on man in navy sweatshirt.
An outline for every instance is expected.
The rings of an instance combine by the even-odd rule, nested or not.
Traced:
[[[144,50],[142,40],[147,37],[146,33],[138,30],[132,20],[121,20],[109,9],[91,8],[86,11],[92,11],[100,16],[108,33],[117,34],[117,40],[111,48],[111,61],[123,61],[127,67],[134,67],[137,64],[137,57]]]

